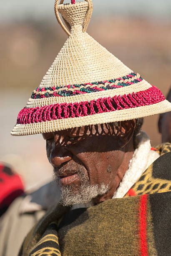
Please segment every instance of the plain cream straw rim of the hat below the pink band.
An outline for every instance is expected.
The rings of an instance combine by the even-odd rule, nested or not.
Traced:
[[[150,115],[171,111],[171,103],[167,100],[162,102],[131,109],[123,109],[96,115],[87,115],[80,118],[67,118],[46,121],[41,123],[17,124],[11,131],[13,136],[26,136],[39,133],[50,133],[85,125],[112,123],[136,118],[144,118]]]

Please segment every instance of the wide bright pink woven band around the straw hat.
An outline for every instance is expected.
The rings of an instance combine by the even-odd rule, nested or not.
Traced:
[[[153,105],[165,100],[155,86],[128,95],[99,98],[85,102],[61,103],[41,108],[23,108],[18,114],[17,124],[38,123],[62,118],[83,117],[98,113],[111,112],[141,106]]]

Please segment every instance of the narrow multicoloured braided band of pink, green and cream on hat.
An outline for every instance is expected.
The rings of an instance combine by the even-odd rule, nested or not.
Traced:
[[[32,99],[41,99],[48,97],[68,97],[91,92],[100,92],[127,87],[131,84],[141,82],[143,79],[139,74],[131,73],[127,76],[112,79],[108,81],[93,82],[86,84],[68,84],[64,87],[38,87],[33,91]]]

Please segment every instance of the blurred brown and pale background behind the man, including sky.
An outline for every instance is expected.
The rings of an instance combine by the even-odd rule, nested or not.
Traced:
[[[171,0],[93,3],[88,33],[166,96],[171,85]],[[67,38],[53,5],[54,0],[0,0],[0,161],[13,165],[28,190],[52,179],[45,141],[41,135],[12,137],[10,131]],[[143,126],[153,146],[161,142],[157,120],[146,118]]]

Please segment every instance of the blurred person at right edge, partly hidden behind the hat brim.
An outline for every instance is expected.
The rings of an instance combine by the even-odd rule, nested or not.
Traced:
[[[171,102],[171,88],[166,99]],[[161,133],[163,143],[171,143],[171,112],[160,114],[158,119],[158,131]]]

